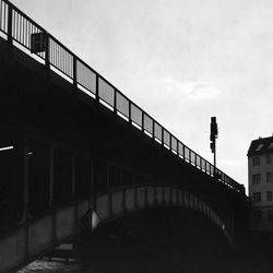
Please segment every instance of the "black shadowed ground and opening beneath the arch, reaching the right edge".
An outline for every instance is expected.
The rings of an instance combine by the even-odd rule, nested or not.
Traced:
[[[251,238],[251,239],[250,239]],[[235,253],[221,232],[183,210],[133,214],[75,242],[76,263],[36,261],[21,272],[273,272],[273,242],[249,236]]]

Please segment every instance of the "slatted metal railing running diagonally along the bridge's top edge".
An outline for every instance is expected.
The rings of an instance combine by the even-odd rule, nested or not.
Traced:
[[[185,145],[116,86],[8,0],[0,0],[0,31],[10,45],[19,46],[29,56],[38,58],[47,68],[73,83],[78,90],[88,94],[91,99],[93,97],[110,108],[115,114],[142,130],[143,134],[154,139],[163,147],[177,155],[179,159],[183,159],[235,191],[244,193],[244,186],[214,168],[210,162]],[[41,34],[40,43],[44,49],[37,52],[33,51],[32,36],[34,34]]]

